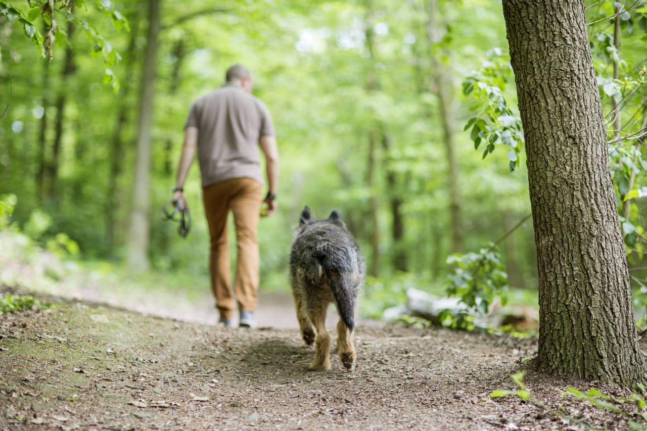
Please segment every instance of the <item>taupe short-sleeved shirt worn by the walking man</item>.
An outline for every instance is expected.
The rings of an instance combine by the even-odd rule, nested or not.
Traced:
[[[203,187],[233,178],[263,183],[258,140],[274,135],[267,106],[242,87],[225,84],[193,102],[184,127],[198,128]]]

